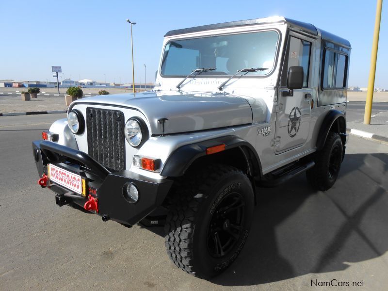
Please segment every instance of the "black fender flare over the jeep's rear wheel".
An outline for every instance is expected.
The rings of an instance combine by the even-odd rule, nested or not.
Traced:
[[[339,134],[346,133],[345,114],[335,109],[330,110],[324,117],[323,122],[321,124],[321,129],[319,130],[317,144],[316,144],[317,151],[323,148],[327,139],[327,135],[329,134],[329,131],[335,122],[337,122],[337,127],[335,131],[338,132]],[[345,145],[345,141],[342,141],[342,144]]]

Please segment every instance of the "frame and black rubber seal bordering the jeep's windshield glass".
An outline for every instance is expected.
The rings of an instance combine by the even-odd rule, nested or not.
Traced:
[[[233,34],[243,34],[243,33],[255,33],[255,32],[268,32],[268,31],[274,31],[278,35],[278,41],[277,41],[277,46],[275,50],[275,59],[274,59],[274,65],[267,74],[265,75],[249,75],[249,74],[244,74],[244,75],[237,75],[234,78],[267,78],[270,75],[272,75],[278,65],[279,61],[279,56],[280,56],[280,47],[283,41],[282,38],[282,33],[279,29],[277,28],[263,28],[263,29],[257,29],[257,30],[250,30],[250,31],[240,31],[240,32],[224,32],[224,33],[217,33],[217,34],[209,34],[209,35],[199,35],[199,36],[192,36],[192,37],[175,37],[175,38],[170,38],[163,46],[162,50],[162,56],[161,56],[161,61],[160,65],[158,68],[158,73],[162,78],[185,78],[186,76],[183,75],[163,75],[162,74],[162,61],[164,59],[164,53],[166,46],[170,44],[171,42],[178,41],[178,40],[186,40],[186,39],[195,39],[195,38],[205,38],[205,37],[213,37],[213,36],[222,36],[222,35],[233,35]],[[195,69],[195,68],[193,68]],[[233,74],[222,74],[222,75],[193,75],[188,77],[189,78],[230,78],[230,76],[233,76]]]

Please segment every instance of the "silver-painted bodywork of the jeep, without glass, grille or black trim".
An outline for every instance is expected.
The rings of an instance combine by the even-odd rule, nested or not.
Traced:
[[[228,135],[236,135],[251,144],[258,153],[262,174],[269,173],[316,151],[325,114],[330,109],[346,110],[346,89],[331,93],[320,89],[322,39],[319,30],[313,34],[303,29],[290,29],[285,18],[270,17],[249,25],[168,35],[163,48],[171,40],[262,30],[276,30],[280,36],[275,65],[266,76],[234,78],[222,92],[217,86],[226,81],[227,76],[196,76],[184,81],[178,90],[176,85],[182,78],[162,77],[159,70],[152,92],[82,98],[73,102],[70,109],[78,109],[84,116],[87,107],[119,109],[125,120],[134,116],[142,118],[151,136],[139,149],[126,143],[126,169],[150,178],[166,177],[162,177],[160,171],[134,167],[133,155],[160,159],[162,168],[177,148]],[[294,90],[293,97],[283,97],[282,92],[288,89],[281,86],[279,80],[284,70],[282,60],[289,34],[311,43],[309,81],[306,88]],[[310,97],[306,97],[307,94]],[[328,97],[330,94],[335,94],[334,101]],[[328,100],[332,104],[317,106]],[[300,111],[300,127],[298,134],[291,137],[289,123],[295,107]],[[168,119],[164,129],[167,135],[162,135],[162,126],[158,123],[161,118]],[[50,131],[62,134],[60,142],[64,141],[65,145],[88,152],[87,129],[75,135],[73,141],[70,138],[67,144],[68,130],[64,129],[63,121],[53,125]]]

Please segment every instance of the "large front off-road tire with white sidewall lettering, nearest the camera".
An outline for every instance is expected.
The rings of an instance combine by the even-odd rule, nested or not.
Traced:
[[[235,238],[228,253],[223,257],[214,257],[211,255],[208,241],[209,234],[214,233],[214,228],[210,227],[214,225],[214,217],[218,219],[220,215],[218,209],[226,203],[223,201],[234,199],[230,198],[234,197],[233,195],[241,196],[243,199],[241,205],[244,204],[238,206],[238,213],[243,213],[240,220],[242,224],[239,226],[241,229],[233,230],[238,231],[239,236],[238,239]],[[254,193],[247,176],[228,165],[207,166],[177,181],[170,203],[164,226],[165,246],[169,258],[183,271],[197,277],[210,278],[222,273],[237,258],[249,234]],[[237,209],[237,205],[232,208]],[[233,211],[237,210],[230,210],[228,213]],[[224,212],[222,209],[221,212],[227,211]],[[211,230],[213,232],[210,232]],[[219,236],[222,235],[221,231],[223,230],[220,230]],[[215,234],[217,235],[217,232]],[[217,238],[214,244],[216,240]],[[220,242],[220,249],[221,245]]]

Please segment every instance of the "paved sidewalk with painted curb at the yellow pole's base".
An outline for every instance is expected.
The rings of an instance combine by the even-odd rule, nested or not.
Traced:
[[[379,112],[372,115],[371,124],[364,124],[363,119],[347,122],[351,134],[388,142],[388,112]]]

